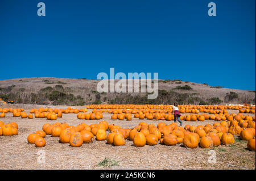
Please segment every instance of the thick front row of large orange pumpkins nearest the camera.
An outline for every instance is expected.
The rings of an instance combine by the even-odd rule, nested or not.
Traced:
[[[251,123],[252,122],[252,123]],[[250,122],[250,127],[241,129],[239,134],[242,140],[246,140],[247,147],[255,151],[255,123]],[[166,125],[158,123],[157,127],[154,124],[139,123],[133,129],[121,128],[118,125],[108,124],[107,121],[100,121],[98,124],[87,125],[81,123],[76,127],[69,126],[67,123],[44,124],[43,131],[37,131],[28,136],[28,143],[35,144],[38,147],[45,146],[44,137],[50,134],[53,137],[59,137],[59,141],[63,144],[69,143],[71,146],[80,147],[94,141],[105,141],[114,146],[125,145],[125,140],[133,141],[137,147],[144,145],[160,144],[174,146],[183,144],[187,148],[212,148],[220,144],[234,144],[233,134],[238,132],[230,131],[232,128],[237,129],[238,121],[233,120],[214,123],[213,125],[206,124],[190,126],[185,125],[185,128],[178,127],[176,123]],[[109,132],[107,136],[107,131]],[[42,144],[43,143],[43,144]]]

